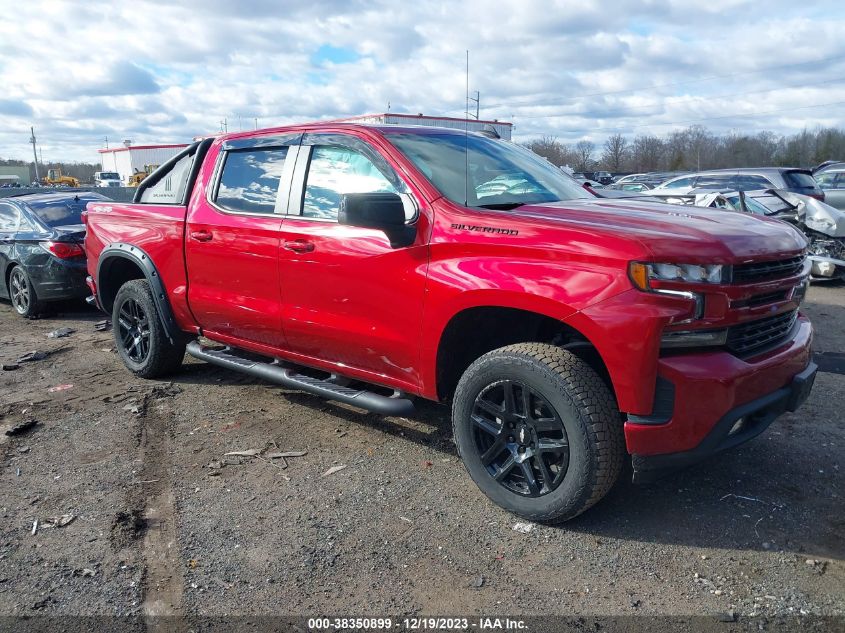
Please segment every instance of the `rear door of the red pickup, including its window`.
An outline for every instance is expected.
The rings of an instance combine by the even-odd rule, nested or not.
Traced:
[[[284,347],[279,231],[300,138],[233,139],[209,151],[214,173],[189,209],[185,257],[191,312],[213,338]]]

